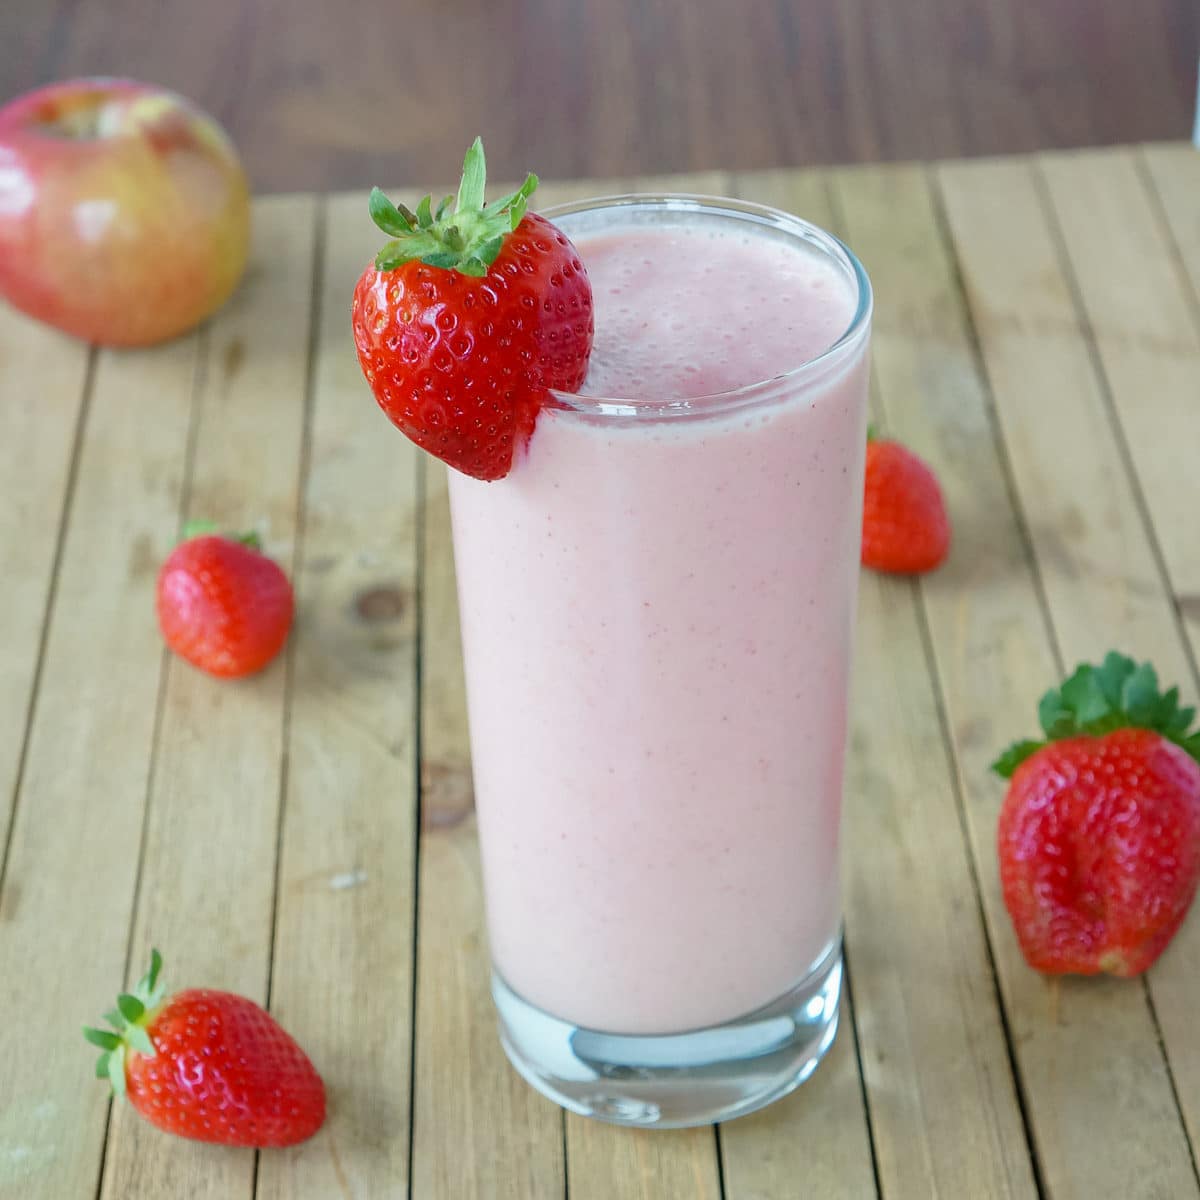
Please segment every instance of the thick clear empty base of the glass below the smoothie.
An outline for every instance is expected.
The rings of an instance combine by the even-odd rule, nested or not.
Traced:
[[[840,996],[840,938],[766,1008],[686,1033],[580,1028],[492,972],[500,1042],[528,1082],[572,1112],[656,1129],[728,1121],[799,1087],[833,1045]]]

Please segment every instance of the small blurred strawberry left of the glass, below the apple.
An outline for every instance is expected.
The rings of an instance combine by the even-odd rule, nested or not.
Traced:
[[[278,654],[292,628],[292,584],[257,534],[188,526],[158,572],[158,628],[181,658],[215,676],[245,676]],[[197,535],[199,534],[199,535]]]

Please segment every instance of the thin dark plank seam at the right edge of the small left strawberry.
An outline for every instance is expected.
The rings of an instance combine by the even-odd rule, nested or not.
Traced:
[[[300,434],[300,469],[296,472],[295,526],[292,541],[292,562],[288,576],[300,580],[304,564],[305,526],[307,517],[308,472],[312,466],[312,418],[316,406],[316,364],[317,340],[320,331],[322,286],[325,278],[325,222],[326,204],[323,196],[316,199],[313,214],[312,247],[312,283],[308,301],[308,338],[305,347],[305,391],[304,391],[304,427]],[[275,830],[275,881],[271,888],[271,918],[268,935],[266,960],[266,1010],[271,1010],[275,985],[275,956],[277,953],[280,918],[280,869],[283,862],[283,829],[288,808],[288,785],[290,780],[292,760],[292,696],[295,680],[295,638],[289,637],[283,664],[283,736],[281,739],[282,758],[280,762],[280,802],[277,805],[277,826]],[[259,1170],[263,1152],[254,1151],[254,1172],[251,1195],[258,1195]]]

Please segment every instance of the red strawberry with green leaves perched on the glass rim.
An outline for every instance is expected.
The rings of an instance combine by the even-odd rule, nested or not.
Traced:
[[[424,450],[502,479],[550,389],[578,391],[592,353],[592,286],[575,247],[527,212],[538,186],[484,204],[479,138],[451,210],[394,205],[371,217],[392,240],[354,289],[354,344],[379,407]]]

